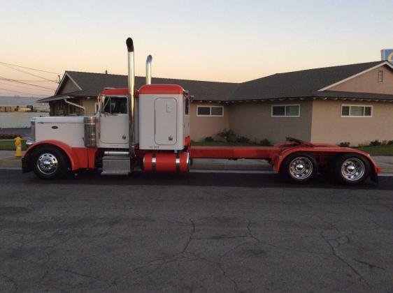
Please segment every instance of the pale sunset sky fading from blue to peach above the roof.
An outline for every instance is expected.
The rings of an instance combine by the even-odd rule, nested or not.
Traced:
[[[0,7],[0,62],[59,75],[127,74],[128,36],[136,75],[145,75],[152,54],[155,77],[223,82],[376,61],[393,47],[392,0],[0,0]],[[54,93],[57,84],[39,77],[56,74],[17,68],[34,77],[3,63],[0,96]]]

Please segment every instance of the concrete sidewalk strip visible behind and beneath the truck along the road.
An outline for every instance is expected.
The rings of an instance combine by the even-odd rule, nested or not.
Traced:
[[[15,158],[15,151],[0,151],[0,168],[21,168],[20,158]],[[393,173],[393,156],[374,156],[382,173]],[[236,171],[272,171],[266,160],[225,160],[193,159],[192,170],[236,170]]]

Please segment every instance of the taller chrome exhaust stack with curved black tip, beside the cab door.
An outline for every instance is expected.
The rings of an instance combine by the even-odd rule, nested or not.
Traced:
[[[134,42],[132,38],[127,38],[128,51],[128,96],[129,96],[129,154],[135,157],[135,61],[134,61]]]

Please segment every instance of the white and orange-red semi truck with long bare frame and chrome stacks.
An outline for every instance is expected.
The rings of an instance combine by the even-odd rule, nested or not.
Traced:
[[[135,89],[134,42],[127,38],[126,44],[128,87],[103,89],[92,116],[31,119],[22,172],[32,170],[41,179],[78,170],[101,170],[103,175],[189,172],[192,159],[243,158],[268,160],[274,171],[296,183],[317,172],[350,185],[378,181],[380,169],[368,153],[334,144],[287,137],[274,147],[192,146],[190,94],[177,84],[152,84],[150,55],[145,85]]]

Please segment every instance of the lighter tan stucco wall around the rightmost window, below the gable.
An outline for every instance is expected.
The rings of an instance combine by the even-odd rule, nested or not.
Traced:
[[[372,117],[341,117],[341,105],[371,105]],[[393,104],[348,100],[313,101],[311,142],[350,142],[352,147],[372,140],[393,140]]]

